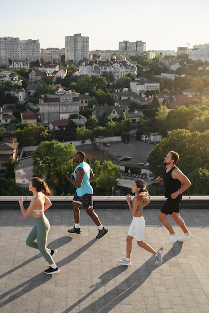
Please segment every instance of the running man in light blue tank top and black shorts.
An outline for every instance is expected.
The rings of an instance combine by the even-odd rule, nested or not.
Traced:
[[[97,225],[99,233],[96,236],[97,239],[107,233],[107,229],[101,224],[98,215],[93,209],[93,188],[90,184],[90,179],[94,177],[94,173],[88,163],[84,161],[85,153],[78,151],[73,156],[73,161],[77,163],[77,166],[73,172],[75,179],[71,178],[69,172],[65,177],[76,187],[76,193],[73,198],[73,212],[75,225],[72,229],[68,229],[71,233],[81,233],[80,228],[80,206],[81,204],[85,207],[86,212],[92,218],[93,222]]]

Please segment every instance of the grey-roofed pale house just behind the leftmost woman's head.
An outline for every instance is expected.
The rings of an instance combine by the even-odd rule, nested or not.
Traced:
[[[16,183],[21,187],[27,188],[31,177],[33,177],[33,157],[28,156],[19,159],[14,171]]]

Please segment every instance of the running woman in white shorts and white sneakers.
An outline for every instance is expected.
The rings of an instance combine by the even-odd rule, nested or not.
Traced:
[[[150,201],[148,199],[149,192],[146,189],[146,184],[143,180],[135,180],[131,191],[134,193],[134,198],[131,203],[131,195],[127,194],[126,201],[131,214],[133,215],[132,222],[128,230],[128,236],[126,238],[126,257],[117,260],[120,265],[131,265],[130,255],[132,250],[132,240],[136,237],[138,246],[151,252],[155,256],[157,264],[160,265],[162,262],[162,250],[155,251],[148,243],[143,241],[143,233],[145,227],[145,220],[143,216],[143,207],[146,206]]]

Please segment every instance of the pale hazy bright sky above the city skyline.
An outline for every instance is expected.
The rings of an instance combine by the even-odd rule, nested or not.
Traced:
[[[65,47],[65,36],[89,37],[89,49],[118,49],[142,40],[146,50],[209,42],[206,0],[1,0],[0,37]]]

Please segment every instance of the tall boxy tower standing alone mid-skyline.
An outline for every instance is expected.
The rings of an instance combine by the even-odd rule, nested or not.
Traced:
[[[78,63],[84,57],[89,58],[89,37],[80,33],[65,37],[65,61],[73,60]]]

